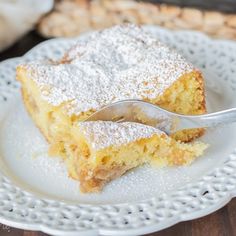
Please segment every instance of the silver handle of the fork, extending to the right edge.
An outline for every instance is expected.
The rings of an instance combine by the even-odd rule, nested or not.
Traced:
[[[180,123],[178,124],[178,130],[215,127],[236,122],[236,108],[218,111],[206,115],[197,115],[197,116],[178,115],[178,116],[180,116],[179,117]]]

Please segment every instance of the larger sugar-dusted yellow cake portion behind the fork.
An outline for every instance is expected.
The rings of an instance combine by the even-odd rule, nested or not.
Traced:
[[[134,98],[182,114],[206,111],[201,72],[134,25],[92,33],[58,62],[20,65],[17,79],[50,153],[70,160],[66,147],[78,122],[112,102]],[[188,142],[202,133],[194,129],[171,136]]]

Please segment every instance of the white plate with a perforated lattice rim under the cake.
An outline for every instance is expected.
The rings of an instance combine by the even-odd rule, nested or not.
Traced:
[[[235,43],[145,28],[202,69],[209,111],[236,106]],[[15,81],[17,64],[60,57],[74,42],[49,40],[0,63],[1,223],[53,235],[140,235],[209,214],[236,195],[236,125],[209,129],[209,149],[189,167],[142,167],[100,194],[81,194],[61,160],[47,156]]]

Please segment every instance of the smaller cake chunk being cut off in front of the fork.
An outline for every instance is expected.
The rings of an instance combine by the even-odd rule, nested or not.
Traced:
[[[190,164],[207,147],[180,143],[151,126],[123,122],[80,122],[66,145],[69,174],[83,192],[97,192],[110,180],[143,164]]]

